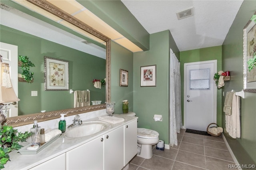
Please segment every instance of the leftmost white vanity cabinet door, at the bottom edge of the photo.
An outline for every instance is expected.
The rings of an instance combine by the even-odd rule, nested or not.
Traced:
[[[64,170],[66,169],[65,154],[56,156],[38,166],[31,168],[30,170]]]

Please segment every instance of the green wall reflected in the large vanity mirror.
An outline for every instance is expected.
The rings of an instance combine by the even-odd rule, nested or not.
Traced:
[[[1,42],[17,45],[18,55],[27,55],[36,65],[31,68],[34,72],[34,82],[18,83],[18,115],[74,107],[74,94],[69,91],[44,91],[44,56],[69,61],[69,89],[90,89],[91,101],[106,100],[105,87],[96,89],[92,84],[93,79],[106,77],[105,59],[6,26],[1,25],[0,32]],[[38,96],[32,97],[31,91],[38,91]]]

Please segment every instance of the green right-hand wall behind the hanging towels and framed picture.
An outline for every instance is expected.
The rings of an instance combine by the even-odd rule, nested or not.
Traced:
[[[256,10],[256,2],[244,0],[222,47],[222,68],[230,70],[231,80],[225,84],[227,91],[243,89],[243,29]],[[256,164],[256,93],[246,93],[240,99],[241,138],[232,139],[224,135],[240,164]],[[222,97],[222,107],[225,98]],[[222,113],[222,126],[225,127],[225,114]]]

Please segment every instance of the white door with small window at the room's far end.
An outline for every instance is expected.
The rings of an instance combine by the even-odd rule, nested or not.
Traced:
[[[217,60],[184,64],[185,128],[206,131],[216,123],[216,68]]]

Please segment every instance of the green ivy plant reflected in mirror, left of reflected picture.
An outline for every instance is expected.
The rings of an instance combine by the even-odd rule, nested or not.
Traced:
[[[22,69],[22,77],[24,78],[25,81],[28,83],[31,83],[33,81],[33,75],[34,73],[30,71],[30,67],[35,67],[35,65],[29,61],[27,56],[22,56],[19,55],[19,61],[21,61],[21,69]]]

